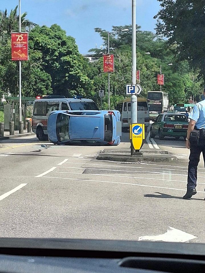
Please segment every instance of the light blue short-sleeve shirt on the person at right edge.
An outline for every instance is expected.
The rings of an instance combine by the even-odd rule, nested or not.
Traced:
[[[205,100],[194,106],[188,118],[196,121],[197,129],[205,129]]]

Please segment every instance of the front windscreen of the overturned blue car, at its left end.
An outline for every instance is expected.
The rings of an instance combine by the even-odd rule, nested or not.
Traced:
[[[59,113],[56,120],[56,132],[58,141],[65,141],[69,139],[69,116]]]

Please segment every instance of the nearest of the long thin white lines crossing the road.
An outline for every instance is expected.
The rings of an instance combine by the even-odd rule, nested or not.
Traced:
[[[140,185],[134,183],[124,183],[124,182],[113,182],[113,181],[101,181],[101,180],[90,180],[90,179],[77,179],[77,178],[64,178],[64,177],[55,177],[55,176],[44,176],[46,178],[56,178],[56,179],[67,179],[67,180],[76,180],[76,181],[89,181],[89,182],[104,182],[104,183],[113,183],[113,184],[123,184],[123,185],[133,185],[139,187],[148,187],[148,188],[157,188],[157,189],[168,189],[168,190],[177,190],[177,191],[186,191],[186,189],[176,189],[168,187],[158,187],[158,186],[149,186],[149,185]],[[204,193],[204,191],[197,191],[198,193]]]

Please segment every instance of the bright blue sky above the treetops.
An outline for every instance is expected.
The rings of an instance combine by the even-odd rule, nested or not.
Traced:
[[[10,13],[19,0],[0,0],[0,10]],[[136,0],[136,24],[141,30],[155,32],[160,6],[157,0]],[[18,11],[19,12],[19,11]],[[132,24],[132,0],[21,0],[21,13],[42,26],[58,24],[75,38],[81,54],[100,48],[103,41],[94,28],[111,31],[112,26]]]

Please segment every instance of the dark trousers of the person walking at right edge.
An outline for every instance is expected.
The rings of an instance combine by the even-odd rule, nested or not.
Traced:
[[[201,152],[203,154],[204,165],[205,165],[205,139],[204,137],[200,136],[198,146],[194,146],[191,144],[191,147],[190,147],[187,189],[196,188],[197,166],[200,160]]]

